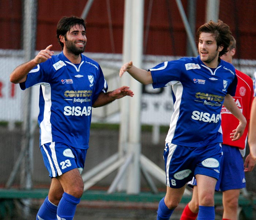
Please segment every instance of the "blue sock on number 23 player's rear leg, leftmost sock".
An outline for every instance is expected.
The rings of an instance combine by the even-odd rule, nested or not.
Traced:
[[[56,220],[57,219],[57,205],[52,204],[48,196],[46,197],[44,203],[38,210],[37,220]]]

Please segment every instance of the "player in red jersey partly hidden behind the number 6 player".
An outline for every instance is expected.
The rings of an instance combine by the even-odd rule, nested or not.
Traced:
[[[236,53],[236,40],[232,37],[229,51],[221,56],[222,60],[232,63],[233,56]],[[253,100],[253,81],[250,76],[236,69],[237,88],[236,95],[233,97],[237,106],[247,120],[244,134],[237,141],[230,139],[230,133],[237,126],[237,120],[225,106],[221,111],[221,127],[223,132],[222,143],[222,163],[219,179],[216,183],[215,190],[222,191],[223,216],[222,220],[237,220],[238,198],[240,189],[245,187],[245,172],[253,170],[256,160],[249,153],[245,162],[245,147],[248,137],[248,127],[250,121],[251,105]],[[236,161],[236,163],[234,163]],[[198,212],[197,186],[193,178],[188,182],[193,187],[191,201],[185,206],[180,220],[195,220]]]

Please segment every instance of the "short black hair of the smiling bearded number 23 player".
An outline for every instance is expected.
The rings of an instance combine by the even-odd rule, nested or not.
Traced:
[[[61,46],[61,50],[63,50],[64,44],[60,42],[60,35],[65,36],[67,32],[70,30],[72,26],[75,24],[82,25],[84,27],[84,30],[86,30],[84,19],[76,17],[76,16],[71,16],[71,17],[63,17],[59,20],[57,24],[57,39],[58,42]]]

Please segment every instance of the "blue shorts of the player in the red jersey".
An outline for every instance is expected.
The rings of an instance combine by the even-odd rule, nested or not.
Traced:
[[[242,189],[245,187],[244,161],[237,147],[222,144],[223,159],[221,172],[216,183],[216,191]],[[188,182],[188,186],[196,185],[196,179]]]

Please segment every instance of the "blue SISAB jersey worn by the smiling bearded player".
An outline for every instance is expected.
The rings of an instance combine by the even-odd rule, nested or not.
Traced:
[[[40,145],[59,141],[87,149],[92,105],[108,85],[97,62],[81,54],[72,64],[62,53],[37,65],[20,88],[40,84]]]

